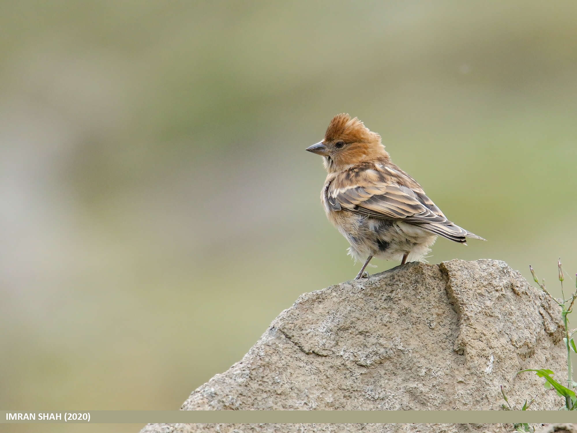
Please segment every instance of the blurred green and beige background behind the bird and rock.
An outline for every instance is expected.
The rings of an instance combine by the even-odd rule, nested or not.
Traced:
[[[304,151],[343,111],[489,240],[430,262],[577,271],[575,2],[1,4],[3,409],[177,409],[353,278]]]

